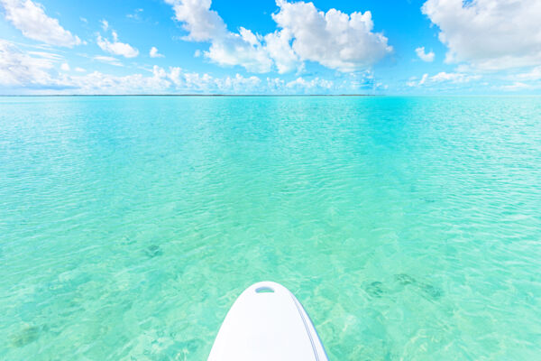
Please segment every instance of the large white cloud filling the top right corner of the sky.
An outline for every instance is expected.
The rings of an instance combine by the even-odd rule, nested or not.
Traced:
[[[541,63],[541,1],[427,0],[422,12],[439,27],[447,62],[478,69]]]

